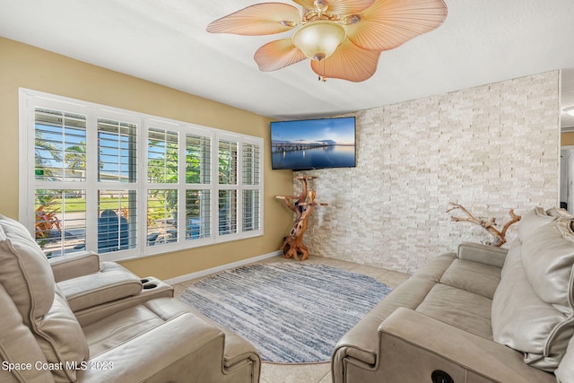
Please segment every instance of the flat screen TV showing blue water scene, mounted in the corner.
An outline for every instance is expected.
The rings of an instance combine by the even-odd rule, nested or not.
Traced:
[[[274,170],[355,167],[355,118],[271,123]]]

